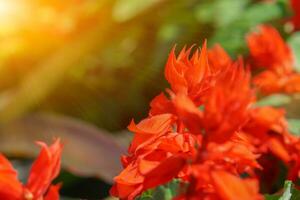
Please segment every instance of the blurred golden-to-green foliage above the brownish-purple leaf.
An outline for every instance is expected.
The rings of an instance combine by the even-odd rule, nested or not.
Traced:
[[[145,115],[174,45],[208,38],[241,53],[247,31],[287,14],[282,1],[34,2],[32,17],[0,33],[0,121],[48,111],[110,131]]]

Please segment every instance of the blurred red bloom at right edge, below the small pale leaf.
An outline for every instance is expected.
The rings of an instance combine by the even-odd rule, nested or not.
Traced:
[[[283,109],[255,108],[243,127],[246,137],[256,147],[256,152],[262,155],[260,164],[264,171],[261,173],[261,182],[265,182],[267,187],[272,184],[275,172],[279,170],[274,161],[286,165],[288,179],[296,180],[299,177],[300,140],[288,132],[284,114]]]

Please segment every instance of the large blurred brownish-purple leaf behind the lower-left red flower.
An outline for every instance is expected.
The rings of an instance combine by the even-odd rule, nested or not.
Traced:
[[[64,142],[62,165],[78,176],[96,176],[111,183],[121,170],[119,158],[126,147],[109,133],[68,117],[35,114],[0,126],[0,152],[10,156],[34,156],[34,141]]]

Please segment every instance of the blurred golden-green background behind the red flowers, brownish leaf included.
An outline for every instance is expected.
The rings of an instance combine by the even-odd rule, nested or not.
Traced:
[[[246,54],[248,31],[271,23],[288,38],[291,15],[288,0],[0,0],[0,151],[26,180],[34,141],[61,137],[61,194],[105,198],[174,45]]]

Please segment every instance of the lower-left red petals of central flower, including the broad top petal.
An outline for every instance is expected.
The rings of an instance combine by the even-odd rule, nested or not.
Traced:
[[[111,195],[134,199],[179,175],[186,160],[196,155],[197,138],[174,132],[176,123],[172,114],[150,116],[137,125],[131,122],[128,128],[135,136],[128,150],[130,155],[122,157],[124,170],[115,177]]]

